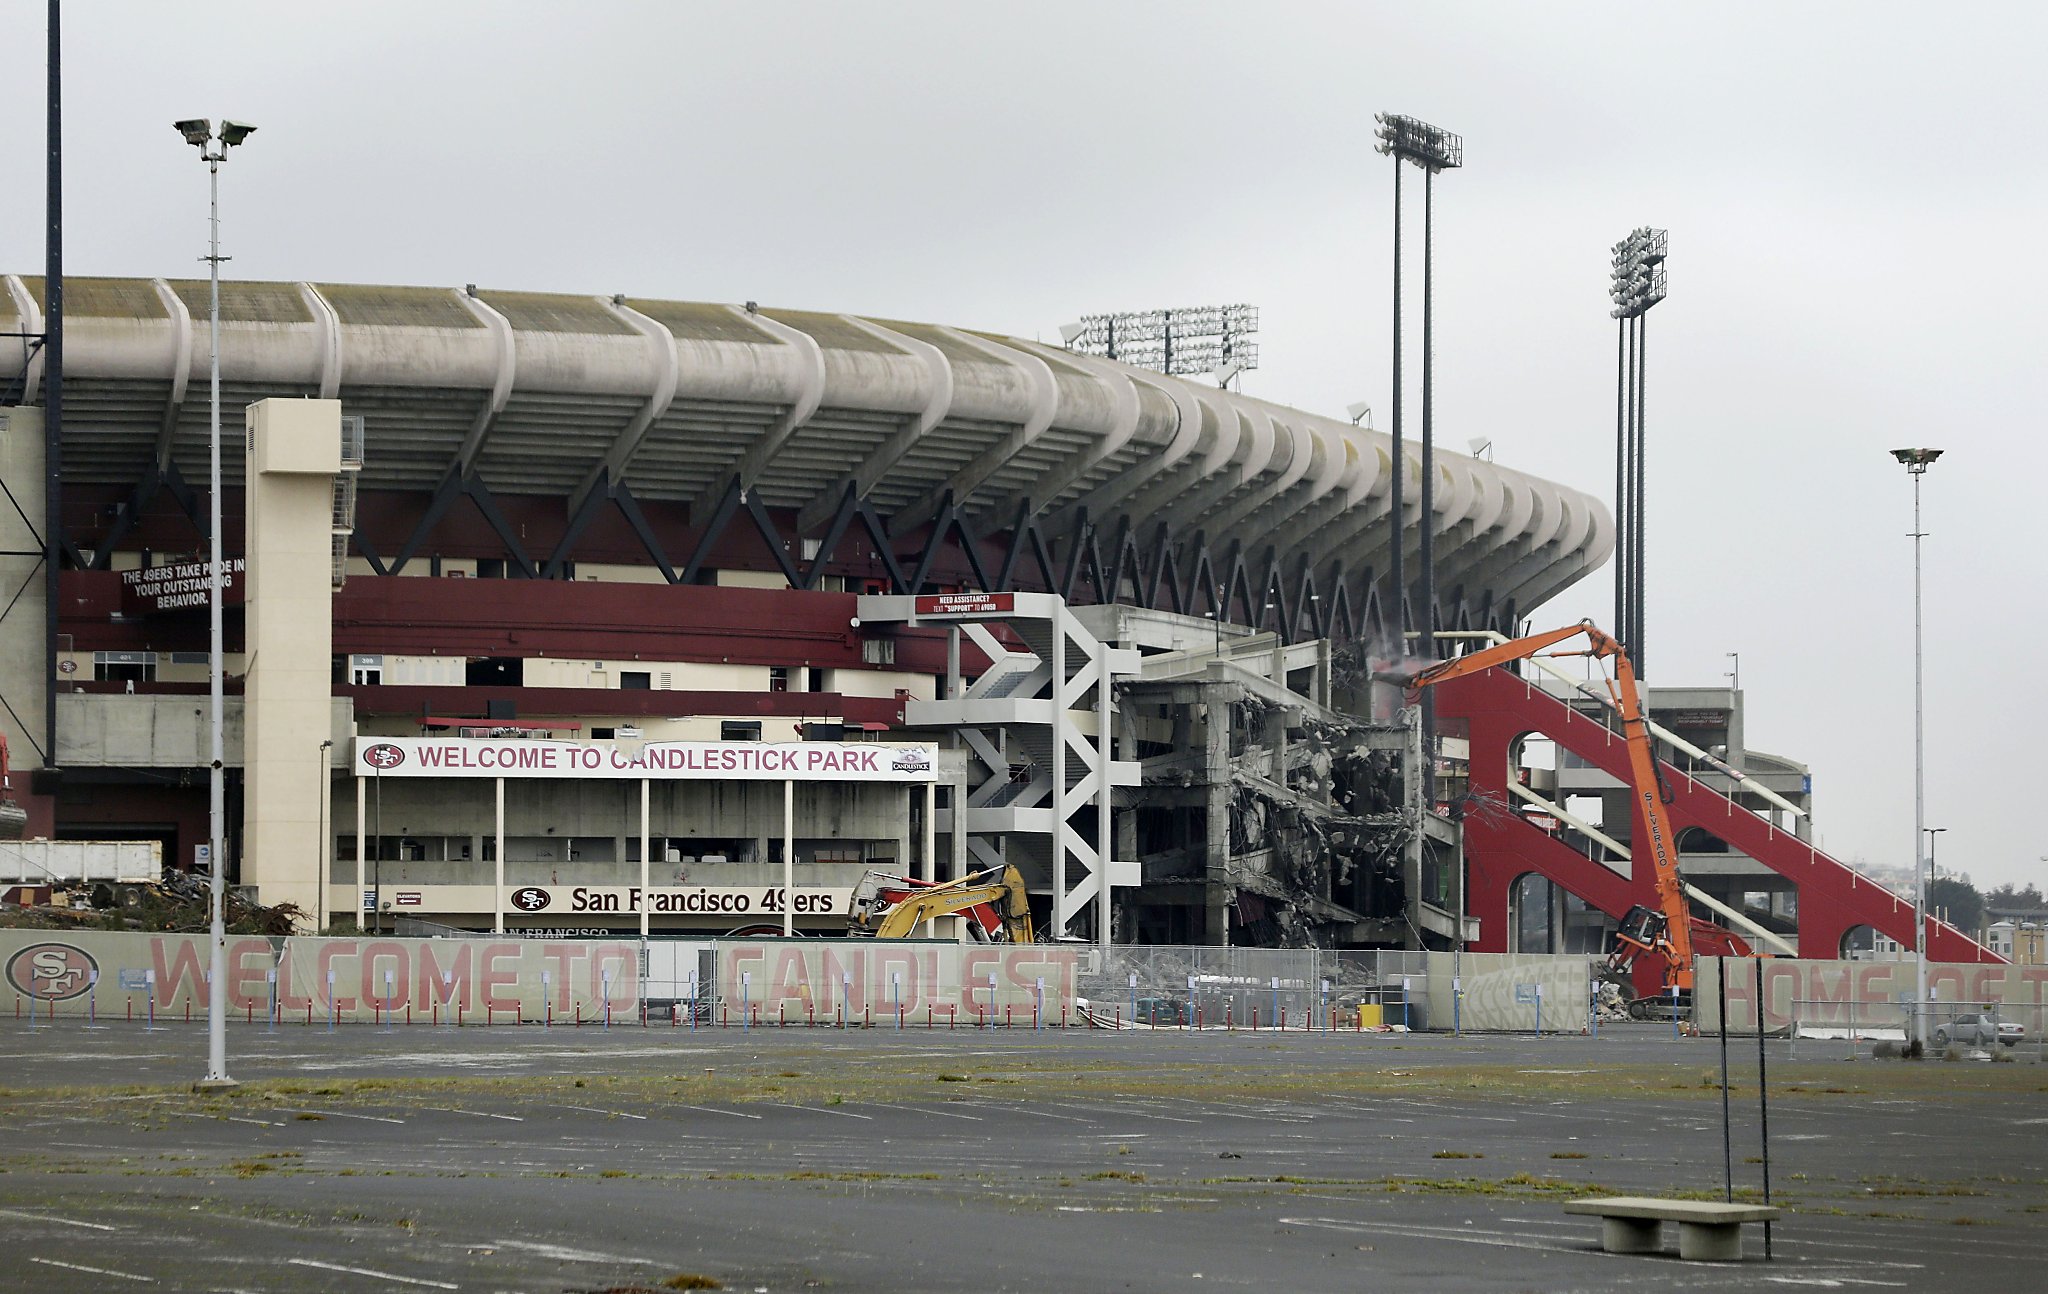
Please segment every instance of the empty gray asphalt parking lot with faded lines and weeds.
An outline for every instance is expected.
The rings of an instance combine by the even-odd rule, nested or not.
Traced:
[[[1083,1030],[0,1030],[0,1288],[2032,1288],[2048,1071],[1774,1042],[1772,1259],[1599,1253],[1724,1192],[1720,1050]],[[1755,1040],[1731,1048],[1739,1198]]]

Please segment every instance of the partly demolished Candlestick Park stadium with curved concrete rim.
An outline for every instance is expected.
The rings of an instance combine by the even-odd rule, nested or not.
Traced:
[[[39,334],[43,283],[0,285],[0,334]],[[6,479],[61,483],[55,536],[12,491],[4,557],[31,833],[158,839],[176,866],[207,842],[207,305],[203,281],[68,278],[57,434],[31,403],[45,356],[0,356]],[[1509,805],[1550,719],[1501,727],[1446,688],[1421,778],[1413,710],[1374,688],[1413,645],[1397,541],[1407,624],[1434,604],[1446,643],[1520,633],[1606,561],[1606,506],[1538,475],[1436,455],[1425,518],[1419,444],[1397,489],[1370,426],[1083,348],[756,303],[223,283],[219,362],[227,870],[319,923],[831,932],[868,868],[1001,862],[1055,936],[1448,946],[1462,923],[1507,948],[1530,876],[1593,925],[1640,893]],[[399,774],[406,741],[600,745],[614,768]],[[645,776],[662,743],[760,741],[934,760]],[[1475,823],[1413,813],[1423,782],[1509,805],[1470,880]],[[1853,889],[1786,878],[1757,866],[1722,899]],[[1858,903],[1815,946],[1894,909]]]

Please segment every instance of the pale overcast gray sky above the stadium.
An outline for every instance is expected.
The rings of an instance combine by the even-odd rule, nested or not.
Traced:
[[[1608,248],[1651,315],[1649,651],[1815,770],[1823,846],[1913,856],[1911,489],[1931,444],[1927,821],[2040,880],[2048,631],[2038,4],[190,4],[66,14],[74,274],[479,283],[1057,336],[1249,301],[1249,393],[1389,391],[1391,164],[1438,184],[1438,438],[1612,498]],[[43,6],[0,8],[0,268],[41,272]],[[1411,334],[1411,344],[1413,344]],[[1540,627],[1612,618],[1593,575]]]

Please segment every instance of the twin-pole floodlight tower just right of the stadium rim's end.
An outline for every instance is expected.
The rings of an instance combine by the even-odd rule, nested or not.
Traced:
[[[1628,647],[1636,676],[1642,649],[1642,405],[1649,358],[1647,315],[1665,299],[1669,235],[1649,225],[1614,244],[1608,311],[1620,323],[1614,350],[1614,633]]]

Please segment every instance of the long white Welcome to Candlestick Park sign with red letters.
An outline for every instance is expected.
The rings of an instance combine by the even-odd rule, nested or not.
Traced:
[[[555,778],[672,782],[932,782],[932,745],[836,741],[610,741],[356,737],[358,778]]]

